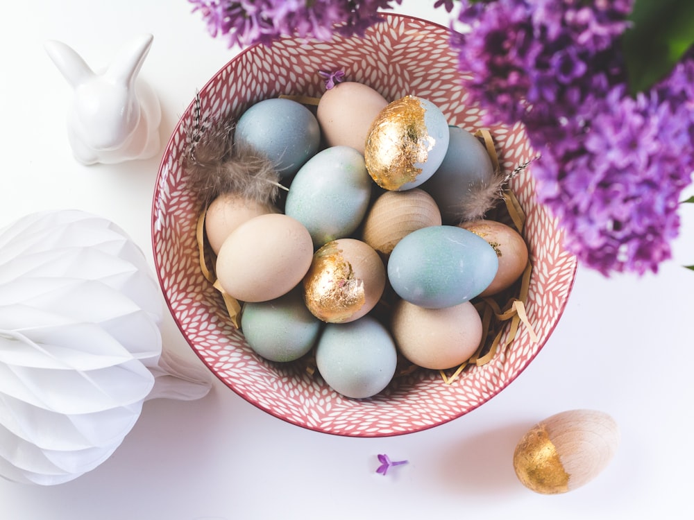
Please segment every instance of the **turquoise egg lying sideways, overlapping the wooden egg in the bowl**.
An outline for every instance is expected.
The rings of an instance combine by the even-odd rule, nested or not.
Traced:
[[[482,293],[498,266],[496,251],[487,241],[467,229],[441,225],[417,229],[400,240],[387,272],[403,300],[441,309]]]

